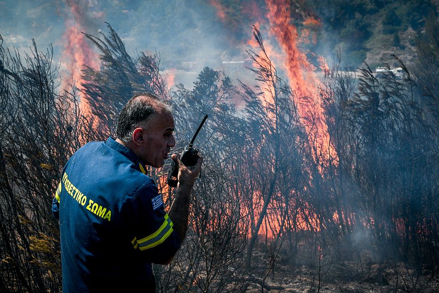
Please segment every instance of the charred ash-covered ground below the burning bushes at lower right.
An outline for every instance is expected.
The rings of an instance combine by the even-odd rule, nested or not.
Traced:
[[[259,245],[253,253],[254,270],[245,292],[439,292],[439,276],[433,271],[404,262],[378,264],[370,250],[360,258],[340,256],[349,259],[343,261],[323,256],[320,265],[316,256],[304,252],[295,257],[279,252],[272,265],[274,254],[264,250]]]

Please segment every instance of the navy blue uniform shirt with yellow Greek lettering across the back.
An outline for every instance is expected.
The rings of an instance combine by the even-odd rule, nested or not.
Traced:
[[[154,291],[151,263],[166,262],[181,244],[145,166],[113,138],[71,156],[52,211],[64,292]]]

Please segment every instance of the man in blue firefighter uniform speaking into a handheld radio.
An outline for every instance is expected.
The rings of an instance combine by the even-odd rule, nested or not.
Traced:
[[[192,170],[180,163],[166,214],[146,165],[163,166],[175,146],[173,131],[170,105],[137,96],[122,108],[116,140],[87,143],[68,160],[53,201],[64,292],[154,291],[151,263],[169,263],[180,248],[202,162],[200,156]]]

